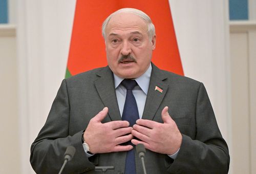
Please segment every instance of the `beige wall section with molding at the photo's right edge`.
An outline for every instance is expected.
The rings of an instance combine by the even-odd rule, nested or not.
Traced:
[[[256,173],[256,22],[230,24],[233,173]]]

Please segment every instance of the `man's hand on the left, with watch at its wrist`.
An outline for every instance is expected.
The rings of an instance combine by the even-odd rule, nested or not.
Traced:
[[[128,151],[133,148],[132,145],[120,145],[133,139],[131,134],[133,128],[129,127],[128,121],[101,123],[108,111],[108,107],[104,107],[93,117],[83,134],[83,139],[90,146],[92,154]]]

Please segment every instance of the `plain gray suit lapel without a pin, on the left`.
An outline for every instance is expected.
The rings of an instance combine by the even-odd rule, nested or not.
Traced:
[[[95,87],[106,107],[109,107],[109,116],[111,120],[121,120],[119,107],[116,99],[113,73],[109,67],[105,67],[97,73],[99,77],[95,80]]]

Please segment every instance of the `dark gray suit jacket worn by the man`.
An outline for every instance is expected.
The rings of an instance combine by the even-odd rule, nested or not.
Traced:
[[[155,91],[155,86],[163,93]],[[31,146],[30,162],[34,170],[37,173],[57,173],[67,146],[73,145],[76,154],[63,173],[99,173],[94,171],[95,165],[115,167],[106,173],[123,173],[126,152],[96,154],[87,158],[82,147],[83,130],[104,106],[109,107],[109,113],[103,122],[121,120],[113,73],[109,67],[63,80],[47,121]],[[161,111],[164,106],[169,107],[169,114],[182,133],[182,144],[175,160],[146,150],[147,173],[227,173],[228,147],[204,85],[159,70],[153,64],[142,118],[163,122]],[[136,170],[143,173],[137,155]]]

